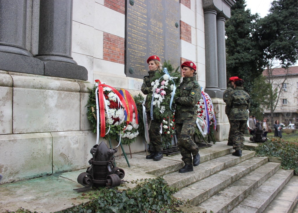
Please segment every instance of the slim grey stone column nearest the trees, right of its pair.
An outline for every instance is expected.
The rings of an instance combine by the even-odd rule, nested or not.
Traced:
[[[217,76],[218,88],[224,92],[226,90],[226,39],[225,39],[224,17],[218,16],[216,19],[217,34]],[[223,98],[221,94],[218,98]]]

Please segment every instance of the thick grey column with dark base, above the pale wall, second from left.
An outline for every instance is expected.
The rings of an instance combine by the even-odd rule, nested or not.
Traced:
[[[72,0],[40,2],[39,44],[36,58],[44,61],[44,75],[87,80],[85,67],[72,52]]]

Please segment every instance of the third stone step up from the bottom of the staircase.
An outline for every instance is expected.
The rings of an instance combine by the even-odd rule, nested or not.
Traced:
[[[255,169],[248,175],[213,195],[198,206],[207,209],[207,212],[226,213],[237,206],[253,190],[257,189],[269,177],[279,170],[280,163],[268,162]]]

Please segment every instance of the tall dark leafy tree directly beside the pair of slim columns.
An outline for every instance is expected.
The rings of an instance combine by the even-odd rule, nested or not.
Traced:
[[[242,78],[244,89],[252,95],[254,78],[263,71],[263,52],[258,48],[258,40],[253,37],[257,14],[245,10],[244,0],[236,0],[231,8],[231,18],[226,21],[226,70],[227,78]],[[252,99],[250,111],[258,108],[259,103]]]

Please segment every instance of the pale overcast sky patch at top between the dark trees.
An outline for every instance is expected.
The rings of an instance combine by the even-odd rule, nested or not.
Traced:
[[[246,9],[250,9],[252,14],[259,13],[263,18],[270,9],[272,0],[246,0]]]

